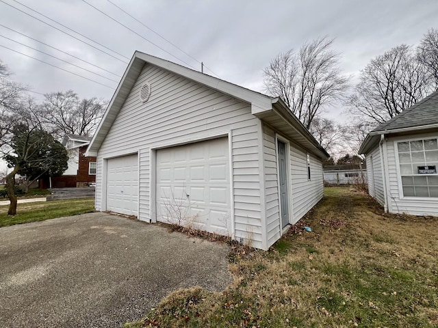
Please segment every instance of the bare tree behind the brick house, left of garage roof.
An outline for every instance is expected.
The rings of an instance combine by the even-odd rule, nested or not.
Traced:
[[[44,126],[58,139],[65,135],[92,135],[96,131],[107,102],[97,98],[79,99],[72,90],[45,94],[38,115]]]

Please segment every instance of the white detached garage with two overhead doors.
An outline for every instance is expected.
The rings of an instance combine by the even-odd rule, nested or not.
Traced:
[[[321,200],[329,157],[280,98],[140,52],[86,154],[97,210],[261,249]]]

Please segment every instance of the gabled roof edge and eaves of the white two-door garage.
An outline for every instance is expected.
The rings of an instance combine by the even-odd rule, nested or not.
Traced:
[[[320,146],[318,141],[316,141],[313,135],[309,133],[307,128],[302,125],[298,118],[296,118],[280,98],[266,96],[260,92],[246,89],[240,85],[235,85],[216,77],[211,77],[208,74],[186,68],[179,64],[175,64],[172,61],[154,57],[140,51],[136,51],[133,54],[127,69],[125,70],[125,74],[123,74],[116,92],[114,92],[110,105],[108,105],[97,131],[94,133],[90,146],[86,152],[86,156],[97,156],[97,152],[101,147],[103,140],[110,131],[118,112],[123,107],[127,96],[129,96],[133,85],[136,83],[146,64],[151,64],[164,70],[168,70],[169,72],[184,77],[185,79],[205,85],[206,87],[222,94],[246,102],[250,105],[251,113],[253,113],[253,115],[271,125],[274,124],[274,128],[276,127],[275,124],[278,124],[280,118],[280,120],[285,123],[282,125],[282,128],[287,127],[289,129],[289,131],[285,133],[286,135],[295,139],[313,154],[317,154],[322,158],[329,157],[329,154],[324,148],[322,148],[322,146]]]

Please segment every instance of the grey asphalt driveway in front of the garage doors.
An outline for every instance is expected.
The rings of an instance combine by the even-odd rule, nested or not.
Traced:
[[[0,228],[0,327],[120,327],[172,290],[222,290],[229,248],[91,213]]]

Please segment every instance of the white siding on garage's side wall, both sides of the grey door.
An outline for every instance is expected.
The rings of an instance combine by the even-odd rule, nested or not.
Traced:
[[[279,191],[275,131],[263,124],[263,169],[266,198],[266,224],[268,247],[281,236]],[[301,219],[324,196],[322,161],[311,155],[311,180],[307,179],[307,152],[289,140],[290,184],[289,206],[292,206],[292,223]],[[290,200],[292,199],[292,202]]]

